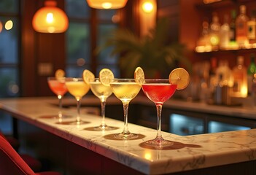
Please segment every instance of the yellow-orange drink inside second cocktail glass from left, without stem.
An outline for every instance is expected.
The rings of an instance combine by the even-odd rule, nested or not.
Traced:
[[[66,88],[68,88],[69,93],[75,98],[81,99],[82,96],[85,96],[90,89],[90,85],[85,84],[85,82],[66,82]]]

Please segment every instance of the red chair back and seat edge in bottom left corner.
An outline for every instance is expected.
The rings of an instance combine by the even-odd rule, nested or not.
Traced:
[[[35,173],[3,136],[0,136],[0,165],[1,175],[61,175],[53,171]]]

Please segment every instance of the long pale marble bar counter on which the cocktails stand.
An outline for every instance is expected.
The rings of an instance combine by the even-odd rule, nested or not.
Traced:
[[[85,98],[83,101],[98,103],[95,98]],[[146,98],[141,98],[136,103],[148,103],[145,101]],[[64,101],[64,103],[69,102]],[[119,102],[112,99],[109,103]],[[256,129],[193,136],[177,136],[163,132],[163,138],[174,141],[174,145],[168,149],[152,149],[144,147],[142,143],[155,138],[156,130],[154,129],[129,123],[129,130],[138,133],[139,138],[127,141],[116,140],[113,139],[113,134],[123,130],[122,121],[106,116],[106,123],[116,126],[118,129],[105,132],[92,131],[90,128],[99,125],[101,117],[83,113],[82,120],[88,121],[88,123],[61,125],[58,120],[46,117],[58,113],[58,106],[53,104],[58,104],[58,101],[55,98],[47,97],[0,99],[0,109],[9,112],[18,120],[23,120],[85,149],[115,160],[141,174],[177,174],[247,162],[253,162],[255,167]],[[166,106],[177,106],[177,104],[170,101]],[[201,110],[204,109],[200,106],[197,107]],[[63,109],[63,113],[75,116],[76,109]],[[250,113],[247,113],[247,116],[254,117]],[[129,117],[136,116],[129,115]],[[74,119],[66,118],[62,122],[69,123],[72,120]]]

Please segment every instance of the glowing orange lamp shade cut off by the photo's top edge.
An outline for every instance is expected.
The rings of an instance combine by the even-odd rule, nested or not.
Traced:
[[[127,0],[87,0],[87,3],[94,9],[120,9],[125,7]]]

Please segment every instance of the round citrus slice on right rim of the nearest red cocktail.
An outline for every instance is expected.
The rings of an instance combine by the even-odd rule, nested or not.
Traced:
[[[185,89],[190,82],[190,74],[183,68],[174,69],[169,74],[169,82],[177,85],[177,90]]]

